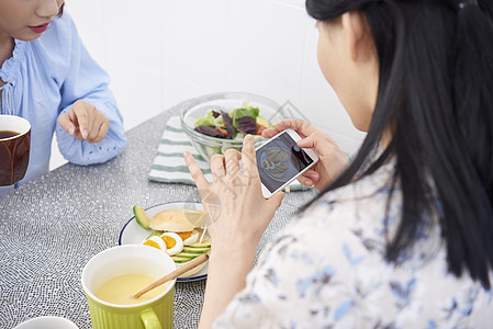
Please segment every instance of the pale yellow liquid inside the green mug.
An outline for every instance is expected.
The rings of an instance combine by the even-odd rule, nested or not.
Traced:
[[[96,297],[107,303],[119,305],[141,304],[157,297],[168,287],[169,283],[165,283],[138,298],[133,296],[155,282],[157,279],[146,274],[125,274],[115,276],[104,282],[94,293]]]

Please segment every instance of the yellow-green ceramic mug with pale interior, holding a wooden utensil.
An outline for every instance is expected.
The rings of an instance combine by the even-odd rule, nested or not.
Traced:
[[[94,256],[83,268],[81,279],[92,328],[172,328],[176,280],[170,281],[158,296],[133,305],[108,303],[94,293],[103,283],[120,275],[145,274],[157,280],[175,269],[176,264],[168,254],[147,246],[117,246]]]

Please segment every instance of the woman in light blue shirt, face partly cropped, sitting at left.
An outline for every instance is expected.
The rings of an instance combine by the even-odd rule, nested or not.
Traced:
[[[109,76],[89,56],[64,1],[0,0],[0,113],[31,123],[27,172],[48,172],[53,134],[76,164],[105,162],[126,144]]]

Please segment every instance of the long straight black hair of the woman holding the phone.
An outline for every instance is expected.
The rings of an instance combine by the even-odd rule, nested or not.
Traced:
[[[391,184],[399,181],[403,208],[386,260],[397,263],[417,234],[434,225],[429,214],[438,214],[449,271],[460,276],[467,270],[485,288],[493,268],[492,3],[306,0],[317,21],[365,12],[380,66],[367,137],[348,169],[314,201],[395,159]],[[372,159],[389,127],[389,146]]]

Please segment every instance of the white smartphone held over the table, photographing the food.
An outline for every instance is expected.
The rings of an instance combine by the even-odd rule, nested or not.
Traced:
[[[300,139],[296,132],[285,129],[256,149],[264,197],[281,191],[318,161],[313,150],[296,145]]]

